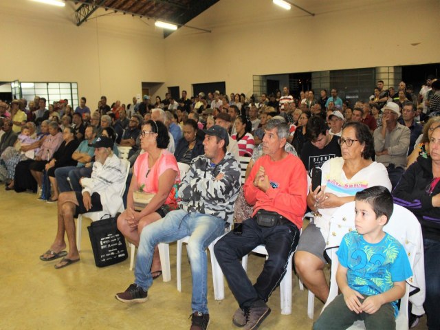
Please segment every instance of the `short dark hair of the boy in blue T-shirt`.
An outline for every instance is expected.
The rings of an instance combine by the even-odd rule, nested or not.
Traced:
[[[393,196],[384,186],[374,186],[358,191],[356,192],[355,200],[369,203],[376,217],[381,217],[382,215],[386,217],[386,223],[388,223],[391,214],[393,214]]]

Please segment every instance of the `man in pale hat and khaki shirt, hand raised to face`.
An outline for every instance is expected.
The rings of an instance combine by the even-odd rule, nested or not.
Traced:
[[[400,117],[399,104],[388,102],[382,111],[382,127],[375,129],[373,135],[374,151],[376,162],[384,164],[388,170],[394,189],[405,171],[411,131],[397,122]]]

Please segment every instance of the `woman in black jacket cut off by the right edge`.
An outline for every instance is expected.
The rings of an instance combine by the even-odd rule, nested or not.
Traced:
[[[440,126],[428,144],[429,157],[420,155],[393,190],[394,203],[408,208],[419,219],[423,234],[426,298],[423,308],[428,329],[440,329]]]

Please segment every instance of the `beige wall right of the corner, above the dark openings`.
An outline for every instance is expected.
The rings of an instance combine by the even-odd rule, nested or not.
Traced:
[[[438,0],[295,2],[316,16],[269,0],[219,1],[188,23],[212,33],[182,28],[166,39],[168,83],[190,91],[225,80],[228,94],[250,94],[253,74],[440,62],[440,39],[429,29]]]

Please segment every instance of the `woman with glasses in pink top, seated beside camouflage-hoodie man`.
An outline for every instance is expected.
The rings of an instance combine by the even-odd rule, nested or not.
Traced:
[[[177,208],[177,183],[180,175],[174,155],[166,150],[169,142],[168,129],[164,123],[153,120],[144,122],[140,132],[140,147],[144,153],[135,161],[126,210],[118,217],[119,230],[136,246],[139,245],[140,233],[146,225]],[[135,211],[135,191],[154,195],[140,212]],[[153,279],[162,274],[157,247],[151,273]]]

